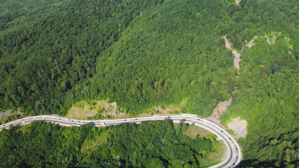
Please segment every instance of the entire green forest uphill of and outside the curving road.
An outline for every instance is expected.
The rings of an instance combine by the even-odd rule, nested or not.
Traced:
[[[299,166],[298,7],[292,0],[0,0],[0,110],[64,116],[81,100],[108,99],[131,116],[185,102],[179,112],[206,117],[238,90],[221,122],[248,122],[241,166]],[[225,34],[242,52],[238,78]]]

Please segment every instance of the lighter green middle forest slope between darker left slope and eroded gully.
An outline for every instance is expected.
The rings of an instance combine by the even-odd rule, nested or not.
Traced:
[[[215,28],[220,2],[168,1],[161,6],[145,10],[100,54],[98,73],[82,92],[108,97],[130,113],[189,98],[186,109],[207,116],[234,89],[231,53]]]

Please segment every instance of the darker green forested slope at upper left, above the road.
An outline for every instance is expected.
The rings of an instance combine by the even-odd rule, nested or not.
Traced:
[[[67,91],[81,90],[78,83],[93,75],[99,53],[119,39],[140,10],[160,3],[46,2],[1,2],[1,109],[61,114]]]

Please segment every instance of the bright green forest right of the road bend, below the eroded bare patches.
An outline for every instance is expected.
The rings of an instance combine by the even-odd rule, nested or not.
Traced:
[[[299,166],[299,64],[288,50],[284,37],[271,47],[261,39],[244,49],[240,90],[222,117],[249,123],[241,140],[249,165]]]

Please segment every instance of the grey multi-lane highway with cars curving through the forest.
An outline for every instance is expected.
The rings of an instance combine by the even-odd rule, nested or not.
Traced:
[[[6,124],[0,125],[0,130],[9,129],[10,125],[25,125],[29,124],[33,121],[42,120],[47,122],[52,122],[55,124],[59,124],[66,127],[71,126],[80,126],[86,123],[92,123],[95,127],[105,127],[106,125],[114,125],[121,123],[140,123],[141,121],[148,120],[163,120],[165,118],[173,120],[173,122],[180,122],[180,120],[184,119],[186,123],[195,123],[198,127],[204,128],[211,133],[215,134],[218,139],[221,139],[227,148],[227,157],[224,161],[219,164],[213,165],[211,167],[234,167],[240,161],[242,157],[241,149],[236,142],[236,140],[225,130],[220,128],[216,123],[211,122],[206,119],[199,118],[197,115],[193,114],[180,114],[180,115],[156,115],[150,117],[137,117],[137,118],[124,118],[124,119],[106,119],[106,120],[79,120],[79,119],[71,119],[65,117],[59,117],[55,115],[39,115],[26,117],[22,119],[18,119],[12,122],[8,122]]]

